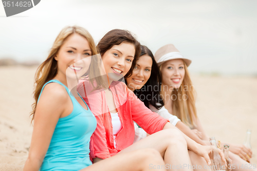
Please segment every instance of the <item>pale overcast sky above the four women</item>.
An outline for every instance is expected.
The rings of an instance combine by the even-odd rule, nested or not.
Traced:
[[[0,4],[0,59],[44,61],[60,30],[79,25],[97,43],[127,29],[153,53],[172,43],[191,72],[257,75],[257,1],[42,0],[5,17]]]

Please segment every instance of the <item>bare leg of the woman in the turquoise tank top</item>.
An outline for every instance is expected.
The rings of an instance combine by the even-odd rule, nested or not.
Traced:
[[[111,158],[101,160],[80,171],[150,171],[166,170],[160,153],[152,148],[138,149],[127,153],[117,154]]]

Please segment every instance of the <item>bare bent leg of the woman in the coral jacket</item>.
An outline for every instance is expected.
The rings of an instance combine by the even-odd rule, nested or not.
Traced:
[[[192,164],[188,155],[187,142],[179,130],[164,129],[158,131],[155,134],[150,135],[121,150],[119,153],[125,153],[128,151],[144,148],[154,148],[159,151],[160,155],[164,159],[164,162],[169,166],[169,169],[193,170],[188,167],[181,167],[184,164]]]

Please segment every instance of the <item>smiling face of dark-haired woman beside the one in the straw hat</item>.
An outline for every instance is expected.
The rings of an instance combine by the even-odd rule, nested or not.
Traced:
[[[127,87],[132,91],[142,88],[151,76],[152,65],[153,60],[149,55],[140,56],[132,75],[126,79]]]

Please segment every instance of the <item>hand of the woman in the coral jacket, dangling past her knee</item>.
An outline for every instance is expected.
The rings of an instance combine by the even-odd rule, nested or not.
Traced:
[[[224,153],[220,149],[216,149],[214,146],[211,145],[199,145],[196,151],[194,151],[197,155],[204,157],[207,164],[211,165],[211,156],[212,156],[212,151],[218,150],[219,156],[221,156],[222,161],[225,163],[225,166],[227,166],[227,162],[224,156]]]

